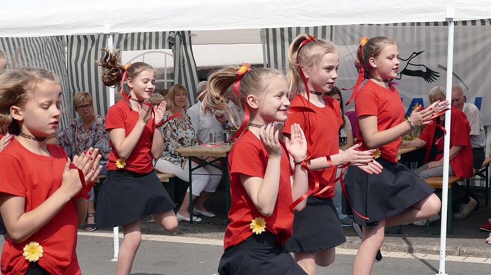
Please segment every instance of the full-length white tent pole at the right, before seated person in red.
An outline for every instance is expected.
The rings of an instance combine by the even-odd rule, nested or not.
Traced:
[[[448,51],[447,51],[447,81],[446,81],[446,99],[452,100],[452,73],[453,73],[453,16],[448,22]],[[447,227],[447,205],[448,205],[448,165],[450,161],[450,115],[451,111],[445,112],[445,138],[443,145],[443,184],[442,184],[442,201],[441,201],[441,227],[440,227],[440,267],[438,275],[445,273],[445,250],[446,250],[446,227]]]

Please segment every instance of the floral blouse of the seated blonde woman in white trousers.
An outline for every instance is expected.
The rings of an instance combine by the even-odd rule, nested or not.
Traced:
[[[171,115],[172,113],[166,112],[163,120],[166,120]],[[182,121],[177,117],[172,118],[162,127],[162,136],[164,138],[164,152],[160,158],[184,167],[186,157],[180,156],[175,150],[198,145],[191,117],[186,113]]]

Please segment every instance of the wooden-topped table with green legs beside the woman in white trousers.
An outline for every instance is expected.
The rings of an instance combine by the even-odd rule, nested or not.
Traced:
[[[193,171],[206,166],[211,165],[215,168],[221,169],[223,171],[223,176],[225,176],[225,216],[226,223],[228,224],[228,210],[230,209],[230,182],[228,177],[228,152],[232,145],[221,144],[215,147],[208,147],[205,145],[196,145],[191,147],[179,148],[175,151],[182,156],[187,156],[189,161],[189,222],[193,223],[193,201],[192,201],[192,175]],[[207,160],[209,157],[213,157],[211,160]],[[192,167],[191,161],[195,159],[200,162],[196,167]],[[216,165],[215,162],[221,161],[223,166],[220,167]],[[196,173],[194,173],[196,174]]]

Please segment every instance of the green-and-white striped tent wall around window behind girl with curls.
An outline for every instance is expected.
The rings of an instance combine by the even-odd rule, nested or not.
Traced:
[[[68,36],[68,75],[72,92],[89,91],[97,104],[96,113],[104,115],[109,106],[109,87],[101,82],[101,69],[95,60],[103,57],[100,50],[108,46],[108,34]],[[174,83],[188,90],[189,102],[194,102],[198,76],[191,48],[190,31],[160,31],[116,33],[113,48],[150,50],[171,48],[174,53]]]

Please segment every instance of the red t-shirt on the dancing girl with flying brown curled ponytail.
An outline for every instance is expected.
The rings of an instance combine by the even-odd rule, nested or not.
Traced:
[[[138,121],[138,112],[133,110],[125,100],[121,100],[118,103],[112,105],[106,114],[106,130],[115,128],[124,128],[126,136],[128,136]],[[152,148],[153,140],[153,119],[148,119],[147,125],[141,133],[140,139],[131,151],[130,156],[126,159],[126,165],[123,169],[130,170],[135,173],[146,174],[153,171],[152,155],[150,150]],[[111,152],[109,153],[109,160],[107,162],[108,170],[117,170],[116,160],[119,159],[118,152],[113,146],[112,140],[109,145],[111,146]]]

